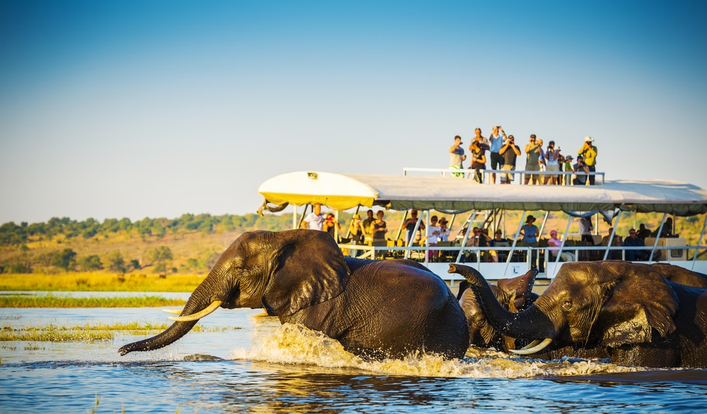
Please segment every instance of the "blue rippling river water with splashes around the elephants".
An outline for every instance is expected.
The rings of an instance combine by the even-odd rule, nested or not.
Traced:
[[[0,309],[0,324],[13,328],[167,317],[160,308]],[[703,413],[707,406],[707,369],[544,362],[473,348],[460,361],[366,362],[259,309],[218,309],[199,324],[212,329],[124,357],[120,346],[146,336],[0,342],[0,413],[86,413],[96,398],[97,413]]]

